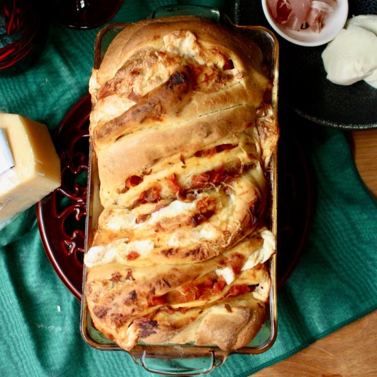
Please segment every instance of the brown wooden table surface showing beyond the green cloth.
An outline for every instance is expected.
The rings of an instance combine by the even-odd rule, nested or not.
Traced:
[[[377,199],[377,130],[348,134],[358,172]],[[320,339],[256,377],[377,376],[377,311]]]

